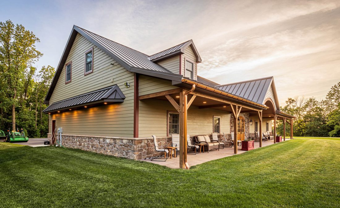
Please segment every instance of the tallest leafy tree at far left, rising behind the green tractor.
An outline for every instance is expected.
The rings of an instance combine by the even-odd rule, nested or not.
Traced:
[[[15,123],[17,92],[23,87],[24,71],[43,55],[36,50],[37,42],[39,39],[33,32],[21,24],[14,25],[11,20],[0,22],[0,70],[7,88],[5,95],[12,105],[12,123]]]

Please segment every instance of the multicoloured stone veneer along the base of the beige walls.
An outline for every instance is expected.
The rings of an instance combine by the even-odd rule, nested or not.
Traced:
[[[47,134],[51,141],[51,134]],[[231,138],[230,134],[226,135]],[[193,142],[194,138],[190,137]],[[171,137],[157,137],[158,146],[171,146]],[[113,155],[115,157],[140,160],[162,155],[155,151],[152,137],[124,138],[104,136],[84,136],[62,134],[62,145],[66,148],[81,149],[100,154]]]

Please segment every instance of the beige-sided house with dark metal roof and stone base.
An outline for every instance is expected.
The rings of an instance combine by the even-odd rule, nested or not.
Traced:
[[[276,119],[292,123],[273,77],[218,84],[198,76],[201,61],[192,40],[149,56],[73,26],[45,99],[50,140],[62,127],[65,147],[142,159],[157,154],[153,134],[159,145],[183,128],[243,140],[272,131]],[[193,85],[184,126],[180,109]]]

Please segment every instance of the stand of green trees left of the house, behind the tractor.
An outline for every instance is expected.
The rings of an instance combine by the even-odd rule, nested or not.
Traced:
[[[29,137],[47,137],[48,115],[44,99],[55,69],[34,67],[41,56],[33,32],[11,20],[0,22],[0,129],[17,123]],[[10,125],[13,123],[12,125]]]

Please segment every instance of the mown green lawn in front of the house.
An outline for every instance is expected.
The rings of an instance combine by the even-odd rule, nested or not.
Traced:
[[[0,143],[0,207],[339,207],[340,139],[294,139],[190,170]]]

